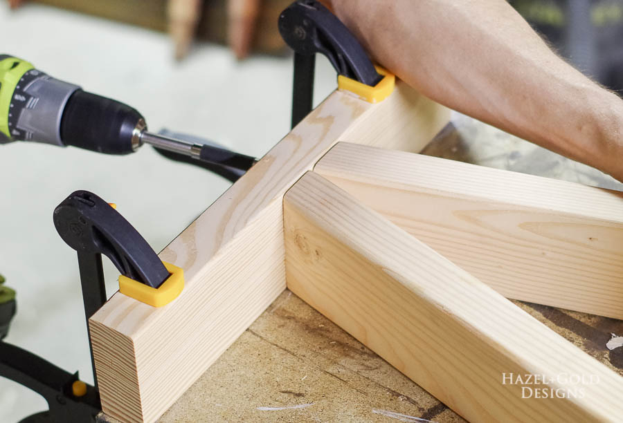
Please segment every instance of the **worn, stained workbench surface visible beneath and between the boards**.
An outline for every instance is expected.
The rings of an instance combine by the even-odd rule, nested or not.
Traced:
[[[623,187],[594,169],[480,122],[462,116],[453,122],[424,153],[586,185]],[[514,303],[623,375],[623,347],[617,347],[623,342],[613,339],[623,336],[623,321]],[[289,291],[161,417],[161,422],[422,420],[463,421]]]

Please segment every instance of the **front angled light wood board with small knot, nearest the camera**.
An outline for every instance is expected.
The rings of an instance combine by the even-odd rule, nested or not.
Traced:
[[[620,420],[622,377],[318,174],[285,195],[284,230],[288,288],[467,420]]]

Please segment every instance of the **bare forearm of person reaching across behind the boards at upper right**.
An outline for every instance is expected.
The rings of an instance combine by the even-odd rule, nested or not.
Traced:
[[[433,100],[623,180],[623,101],[505,0],[334,0],[368,51]]]

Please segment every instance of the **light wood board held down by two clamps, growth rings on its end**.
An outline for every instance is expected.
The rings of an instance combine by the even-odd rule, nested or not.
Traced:
[[[437,127],[428,124],[433,110],[445,116]],[[422,148],[448,118],[401,83],[379,104],[329,95],[161,252],[184,269],[180,297],[156,309],[117,292],[91,318],[105,413],[156,420],[285,289],[283,194],[347,131],[377,122],[392,128],[392,145],[413,137]]]

